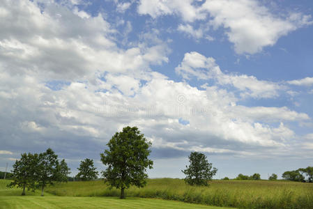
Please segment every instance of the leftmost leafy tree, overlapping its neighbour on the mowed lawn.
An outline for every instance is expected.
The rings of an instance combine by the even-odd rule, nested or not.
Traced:
[[[20,187],[25,195],[25,188],[35,191],[36,187],[36,168],[38,164],[38,154],[23,153],[20,160],[13,164],[12,182],[7,187]]]

